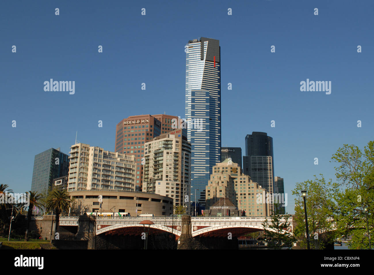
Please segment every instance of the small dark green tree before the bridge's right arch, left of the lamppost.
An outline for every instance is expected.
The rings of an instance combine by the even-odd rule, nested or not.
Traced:
[[[278,207],[275,207],[275,213],[270,217],[270,221],[266,218],[262,223],[264,236],[268,239],[268,247],[273,249],[291,249],[294,242],[296,242],[296,238],[290,230],[290,222],[288,221],[291,215],[281,215]],[[285,219],[285,221],[281,221],[281,219]]]

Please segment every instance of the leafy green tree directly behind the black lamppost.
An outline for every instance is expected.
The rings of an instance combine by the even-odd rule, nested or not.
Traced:
[[[310,248],[324,249],[331,244],[337,235],[334,227],[334,210],[336,208],[334,196],[339,192],[338,184],[330,179],[326,182],[322,174],[321,178],[314,175],[313,180],[296,183],[292,190],[295,198],[294,234],[301,247],[307,247],[304,199],[301,191],[307,192],[306,209],[308,215]]]

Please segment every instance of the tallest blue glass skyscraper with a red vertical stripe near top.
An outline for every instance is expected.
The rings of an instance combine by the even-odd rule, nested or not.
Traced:
[[[191,142],[191,201],[205,208],[205,186],[221,162],[220,41],[200,37],[187,43],[186,119]],[[200,213],[199,213],[200,214]]]

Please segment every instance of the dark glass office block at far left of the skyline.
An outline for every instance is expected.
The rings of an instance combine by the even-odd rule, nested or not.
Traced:
[[[50,148],[35,155],[31,191],[39,193],[49,191],[54,186],[54,178],[67,175],[69,169],[68,157],[68,155],[60,152],[60,148]]]

